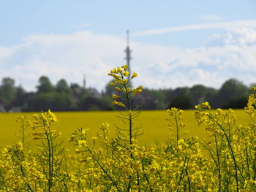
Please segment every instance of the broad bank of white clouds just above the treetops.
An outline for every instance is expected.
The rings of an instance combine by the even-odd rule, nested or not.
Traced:
[[[125,64],[125,46],[125,39],[89,31],[30,36],[20,45],[0,47],[0,78],[12,77],[30,91],[41,75],[48,75],[53,83],[65,78],[82,85],[86,74],[86,85],[102,90],[110,81],[109,70]],[[131,42],[130,47],[132,71],[139,74],[135,85],[219,88],[231,77],[247,85],[256,81],[256,31],[252,28],[214,35],[205,47],[195,49],[139,42]]]

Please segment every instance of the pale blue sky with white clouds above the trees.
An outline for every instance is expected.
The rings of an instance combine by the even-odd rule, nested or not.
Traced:
[[[0,0],[0,79],[35,91],[39,77],[104,91],[132,49],[134,85],[220,88],[256,82],[255,0]]]

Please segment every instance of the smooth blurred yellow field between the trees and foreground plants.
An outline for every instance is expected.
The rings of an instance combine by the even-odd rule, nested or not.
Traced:
[[[199,137],[200,139],[207,138],[206,131],[203,125],[197,126],[194,117],[195,110],[184,110],[181,122],[186,126],[184,131],[187,131],[186,137]],[[246,125],[249,118],[244,110],[235,110],[238,118],[237,125]],[[58,118],[57,123],[53,124],[54,128],[61,131],[61,139],[64,140],[64,146],[70,147],[67,139],[71,137],[72,132],[77,128],[88,128],[89,137],[97,136],[99,126],[102,123],[110,123],[110,137],[116,134],[116,126],[125,128],[125,125],[120,118],[119,112],[54,112]],[[26,115],[28,119],[32,120],[34,112],[22,113],[0,113],[0,147],[5,145],[12,145],[18,141],[19,128],[16,119],[20,115]],[[142,111],[138,118],[135,119],[135,126],[143,129],[143,135],[138,139],[140,144],[150,144],[152,142],[165,142],[170,137],[170,130],[168,128],[168,114],[166,111]],[[31,133],[31,128],[26,132]]]

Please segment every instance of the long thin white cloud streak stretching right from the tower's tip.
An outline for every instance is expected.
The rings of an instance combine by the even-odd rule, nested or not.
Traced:
[[[192,31],[192,30],[202,30],[202,29],[210,29],[210,28],[242,28],[242,27],[256,27],[256,20],[235,20],[235,21],[227,21],[227,22],[219,22],[219,23],[204,23],[204,24],[195,24],[188,26],[176,26],[170,28],[156,28],[146,31],[138,31],[132,34],[133,37],[143,37],[150,36],[155,34],[167,34],[178,31]]]

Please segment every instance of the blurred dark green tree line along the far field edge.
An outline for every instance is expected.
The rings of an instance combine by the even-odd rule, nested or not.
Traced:
[[[68,85],[64,79],[53,85],[46,76],[39,77],[36,91],[27,92],[21,85],[15,86],[12,78],[4,77],[0,85],[0,112],[121,110],[111,104],[111,96],[115,93],[109,83],[105,91],[99,93],[95,88],[84,88],[77,83]],[[135,97],[135,105],[140,106],[140,110],[170,107],[187,110],[208,101],[213,108],[240,109],[246,106],[249,93],[250,88],[236,79],[225,81],[219,89],[204,85],[158,90],[144,88]]]

